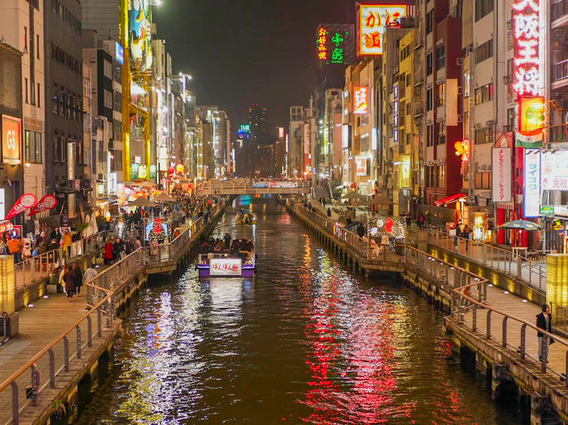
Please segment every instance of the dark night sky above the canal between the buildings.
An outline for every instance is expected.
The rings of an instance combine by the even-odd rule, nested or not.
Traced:
[[[354,21],[352,0],[162,0],[154,8],[173,70],[193,76],[198,105],[224,107],[236,130],[258,102],[271,133],[313,91],[318,24]]]

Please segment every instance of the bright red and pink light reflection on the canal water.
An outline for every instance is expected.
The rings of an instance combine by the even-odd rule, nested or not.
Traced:
[[[312,285],[307,276],[304,285]],[[391,303],[367,296],[352,305],[353,282],[335,273],[323,278],[312,303],[305,334],[311,350],[306,358],[310,390],[300,400],[312,407],[306,423],[387,423],[410,417],[413,405],[395,405],[397,390],[393,324],[399,311]],[[354,299],[359,299],[359,296]]]

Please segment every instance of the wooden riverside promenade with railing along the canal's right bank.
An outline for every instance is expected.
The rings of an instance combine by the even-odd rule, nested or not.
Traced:
[[[507,286],[494,284],[500,283],[500,279],[507,281],[510,274],[517,272],[519,264],[521,271],[525,270],[520,259],[511,261],[507,253],[499,258],[501,253],[498,252],[484,257],[484,249],[479,260],[469,256],[473,261],[461,264],[455,257],[434,255],[438,252],[433,251],[440,248],[436,248],[437,243],[446,244],[450,250],[453,240],[450,240],[451,245],[440,241],[441,238],[437,241],[431,233],[427,250],[406,244],[398,253],[373,256],[368,240],[344,228],[335,232],[336,215],[327,217],[327,210],[319,203],[314,202],[313,206],[316,212],[305,209],[300,203],[288,202],[290,212],[341,260],[366,274],[367,270],[391,272],[391,265],[398,263],[399,274],[409,286],[449,311],[446,330],[454,353],[491,382],[492,396],[496,400],[508,397],[509,392],[516,394],[517,401],[531,411],[532,425],[552,417],[568,422],[568,340],[544,332],[544,355],[540,358],[536,327],[540,304],[513,294]],[[465,245],[461,249],[465,251]],[[484,265],[483,258],[494,267],[491,279],[477,273],[475,265]],[[499,265],[509,267],[503,265],[508,261],[516,267],[511,266],[510,272],[509,268],[500,270]],[[525,276],[528,274],[523,273],[521,277]],[[548,344],[549,339],[554,339],[555,343]]]

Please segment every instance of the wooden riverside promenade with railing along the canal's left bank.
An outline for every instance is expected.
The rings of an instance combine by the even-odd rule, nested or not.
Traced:
[[[201,236],[223,214],[217,203],[208,222],[188,220],[176,239],[139,248],[85,282],[71,302],[48,295],[19,311],[20,333],[0,346],[0,424],[72,421],[86,394],[112,364],[120,334],[117,311],[151,274],[170,274],[193,254]]]

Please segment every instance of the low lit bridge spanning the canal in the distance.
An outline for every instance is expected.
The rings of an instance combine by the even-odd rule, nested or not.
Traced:
[[[238,180],[213,180],[202,182],[195,186],[195,194],[207,195],[257,195],[279,194],[296,195],[308,194],[312,190],[312,183],[304,180],[298,181],[251,181],[248,179]]]

